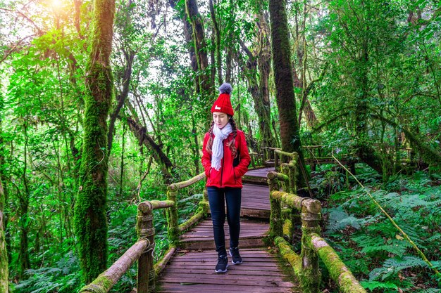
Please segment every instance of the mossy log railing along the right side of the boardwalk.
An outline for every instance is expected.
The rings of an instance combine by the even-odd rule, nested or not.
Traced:
[[[334,249],[320,236],[321,202],[309,197],[295,195],[295,172],[297,154],[275,150],[275,155],[290,157],[289,163],[281,164],[282,172],[268,172],[271,216],[270,235],[280,254],[292,266],[300,280],[304,293],[320,292],[321,272],[318,261],[322,259],[330,277],[344,293],[366,293],[349,269],[344,266]],[[277,160],[277,159],[276,159]],[[282,190],[280,191],[280,187]],[[293,222],[302,221],[302,252],[297,254],[290,244],[293,236]]]

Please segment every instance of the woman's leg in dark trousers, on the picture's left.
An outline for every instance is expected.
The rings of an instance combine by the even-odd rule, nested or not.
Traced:
[[[225,223],[225,200],[223,188],[210,186],[207,188],[209,193],[209,203],[211,220],[213,221],[214,243],[218,256],[227,256],[225,249],[225,233],[223,225]]]

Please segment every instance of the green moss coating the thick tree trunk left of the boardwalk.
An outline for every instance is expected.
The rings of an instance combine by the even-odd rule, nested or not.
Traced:
[[[85,119],[79,192],[75,201],[75,234],[86,283],[107,267],[107,119],[113,99],[110,67],[89,61],[89,94]]]

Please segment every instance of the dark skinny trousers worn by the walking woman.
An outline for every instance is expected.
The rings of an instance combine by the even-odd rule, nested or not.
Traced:
[[[214,243],[219,256],[227,255],[225,249],[225,200],[227,202],[227,221],[230,228],[230,247],[239,245],[240,234],[240,204],[242,200],[242,188],[217,188],[209,186],[211,219],[213,220]]]

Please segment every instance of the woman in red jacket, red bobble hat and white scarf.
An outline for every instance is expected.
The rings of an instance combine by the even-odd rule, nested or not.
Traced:
[[[218,252],[216,273],[225,273],[228,268],[228,256],[225,249],[225,201],[227,202],[227,220],[230,228],[230,256],[232,263],[242,263],[239,254],[240,203],[242,197],[242,176],[247,173],[249,157],[247,142],[242,131],[236,128],[232,118],[230,84],[222,84],[221,92],[211,107],[213,122],[205,134],[202,152],[207,178],[211,219],[213,220],[214,242]]]

